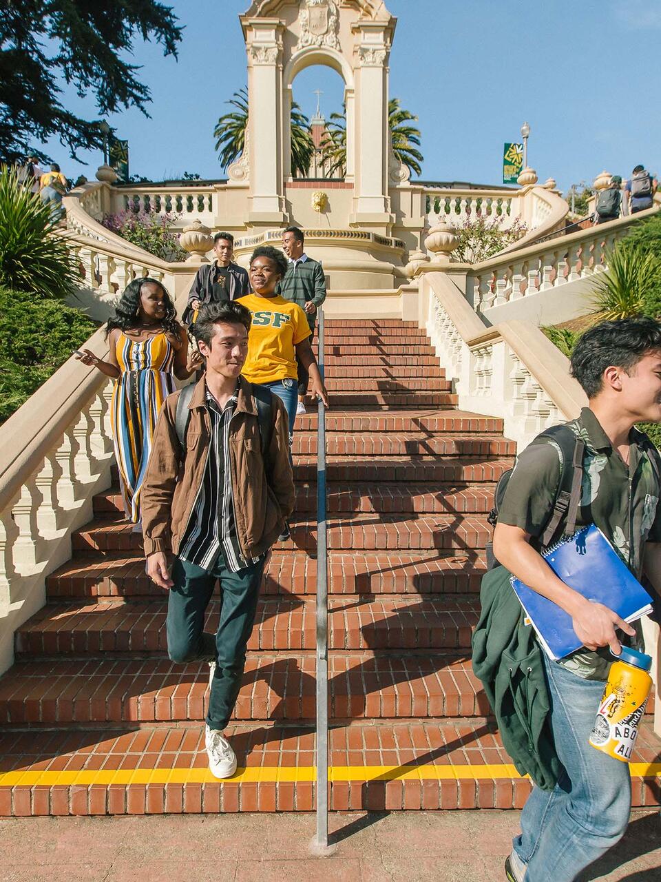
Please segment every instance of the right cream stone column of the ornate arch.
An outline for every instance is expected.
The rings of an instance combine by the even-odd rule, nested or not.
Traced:
[[[395,19],[360,19],[355,44],[355,198],[353,225],[388,232],[394,217],[388,195],[388,60]],[[385,229],[383,229],[385,228]]]

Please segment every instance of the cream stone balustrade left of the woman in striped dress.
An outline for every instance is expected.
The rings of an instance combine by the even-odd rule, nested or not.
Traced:
[[[108,352],[101,331],[86,345]],[[110,483],[111,386],[70,359],[0,427],[0,672],[14,631],[45,602],[48,573],[71,557],[71,532]]]

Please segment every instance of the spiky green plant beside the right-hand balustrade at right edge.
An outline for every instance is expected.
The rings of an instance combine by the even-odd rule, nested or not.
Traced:
[[[599,274],[592,301],[599,318],[613,321],[645,313],[651,292],[661,285],[661,261],[631,247],[615,247],[605,259],[608,269]]]

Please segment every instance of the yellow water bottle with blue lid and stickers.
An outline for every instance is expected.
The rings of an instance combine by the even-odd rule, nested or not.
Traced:
[[[605,684],[604,697],[590,733],[590,744],[609,757],[628,763],[634,752],[638,728],[650,696],[650,655],[622,647],[615,656]]]

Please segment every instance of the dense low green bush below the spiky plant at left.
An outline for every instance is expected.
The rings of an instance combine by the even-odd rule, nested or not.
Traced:
[[[54,298],[0,288],[0,422],[46,382],[96,325]]]

